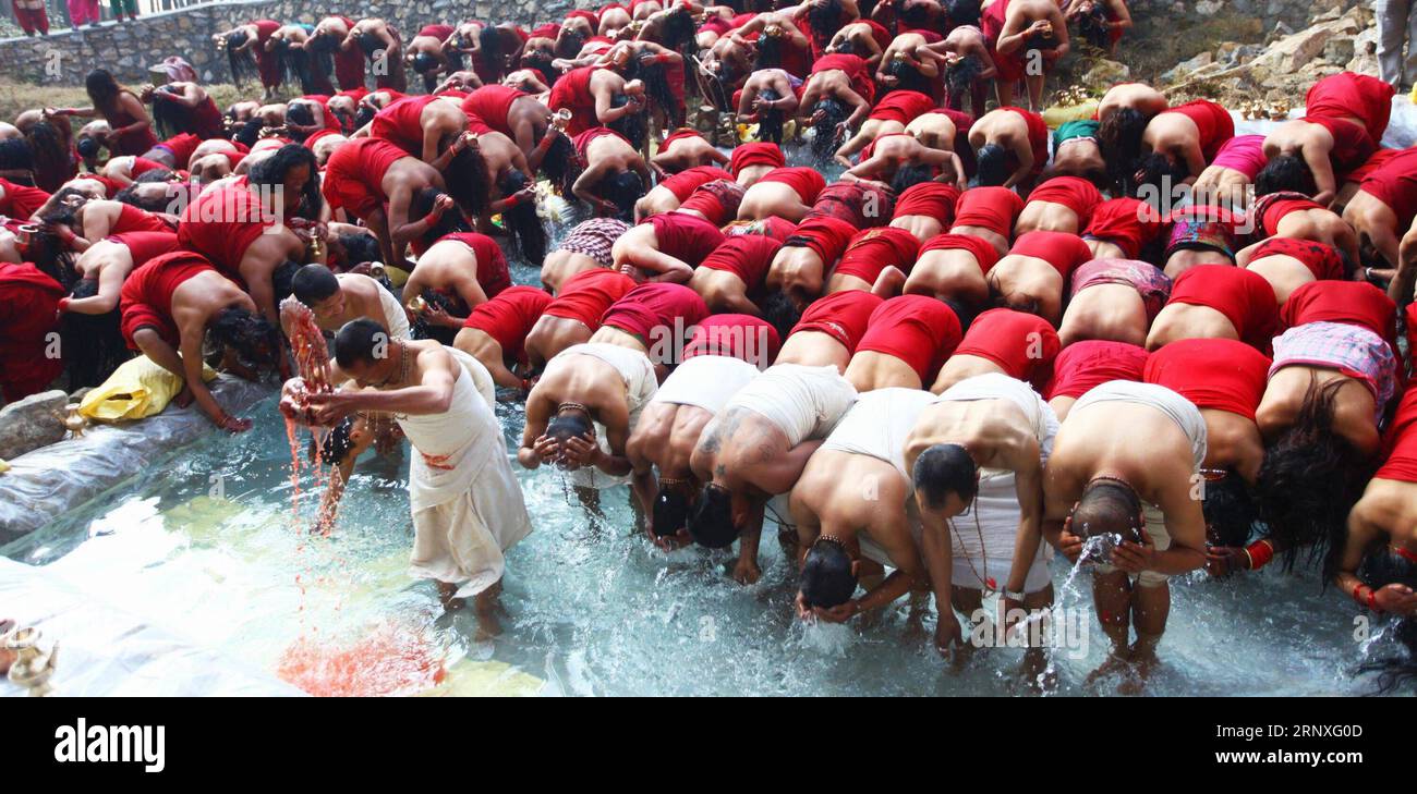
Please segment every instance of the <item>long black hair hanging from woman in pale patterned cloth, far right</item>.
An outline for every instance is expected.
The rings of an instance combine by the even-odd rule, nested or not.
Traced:
[[[1372,474],[1363,454],[1333,427],[1343,381],[1309,384],[1294,426],[1264,450],[1257,495],[1260,517],[1284,548],[1284,569],[1292,570],[1301,549],[1306,562],[1321,562],[1328,586],[1338,573],[1348,538],[1348,511],[1363,495]]]

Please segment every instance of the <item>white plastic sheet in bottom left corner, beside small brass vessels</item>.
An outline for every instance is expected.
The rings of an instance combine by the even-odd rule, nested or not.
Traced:
[[[292,696],[300,689],[193,644],[50,569],[0,558],[0,614],[60,641],[60,696]],[[0,695],[24,689],[0,679]]]

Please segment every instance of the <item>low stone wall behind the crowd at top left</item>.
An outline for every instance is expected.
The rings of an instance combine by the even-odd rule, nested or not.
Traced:
[[[55,31],[44,38],[0,41],[0,64],[13,79],[35,84],[82,85],[84,75],[103,67],[119,82],[147,81],[147,65],[169,55],[187,58],[203,82],[230,82],[225,55],[211,44],[211,35],[238,21],[271,18],[282,23],[315,24],[330,14],[353,18],[391,20],[404,37],[429,23],[463,18],[496,18],[530,24],[558,20],[589,0],[415,0],[412,3],[326,0],[244,0],[207,3],[176,11],[149,14],[136,23],[105,23],[98,28]],[[599,4],[599,3],[595,3]]]

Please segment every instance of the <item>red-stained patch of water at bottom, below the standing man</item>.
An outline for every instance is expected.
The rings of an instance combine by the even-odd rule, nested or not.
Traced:
[[[446,669],[422,631],[381,626],[347,647],[300,637],[281,655],[276,675],[317,698],[367,698],[428,689]]]

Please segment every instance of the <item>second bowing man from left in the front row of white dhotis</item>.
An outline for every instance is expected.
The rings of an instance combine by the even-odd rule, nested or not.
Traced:
[[[728,399],[758,375],[731,355],[696,355],[680,364],[655,392],[629,436],[626,454],[635,471],[635,495],[649,514],[649,534],[665,549],[693,542],[686,522],[700,484],[689,466],[704,426]],[[659,468],[657,483],[652,477]],[[640,490],[649,485],[649,490]],[[752,555],[757,556],[757,552]],[[757,560],[740,563],[734,577],[758,580]]]

